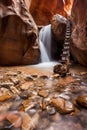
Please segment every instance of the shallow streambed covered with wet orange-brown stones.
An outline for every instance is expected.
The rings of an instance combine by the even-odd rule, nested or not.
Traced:
[[[87,130],[87,71],[0,68],[1,130]]]

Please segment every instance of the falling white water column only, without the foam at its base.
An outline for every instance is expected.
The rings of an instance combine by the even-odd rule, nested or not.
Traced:
[[[51,25],[47,25],[40,30],[39,39],[41,62],[49,62],[51,60]]]

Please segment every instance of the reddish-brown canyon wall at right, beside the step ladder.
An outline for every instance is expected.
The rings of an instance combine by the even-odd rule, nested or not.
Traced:
[[[74,0],[71,21],[72,54],[80,64],[87,66],[87,0]]]

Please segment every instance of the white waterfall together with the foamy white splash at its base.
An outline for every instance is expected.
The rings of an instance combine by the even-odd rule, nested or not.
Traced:
[[[47,25],[40,30],[39,33],[41,63],[32,65],[32,67],[38,67],[43,69],[53,68],[58,62],[52,61],[51,58],[51,25]]]

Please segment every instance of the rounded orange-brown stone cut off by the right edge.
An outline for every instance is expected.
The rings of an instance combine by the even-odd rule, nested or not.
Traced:
[[[77,103],[87,108],[87,95],[81,95],[77,98]]]

